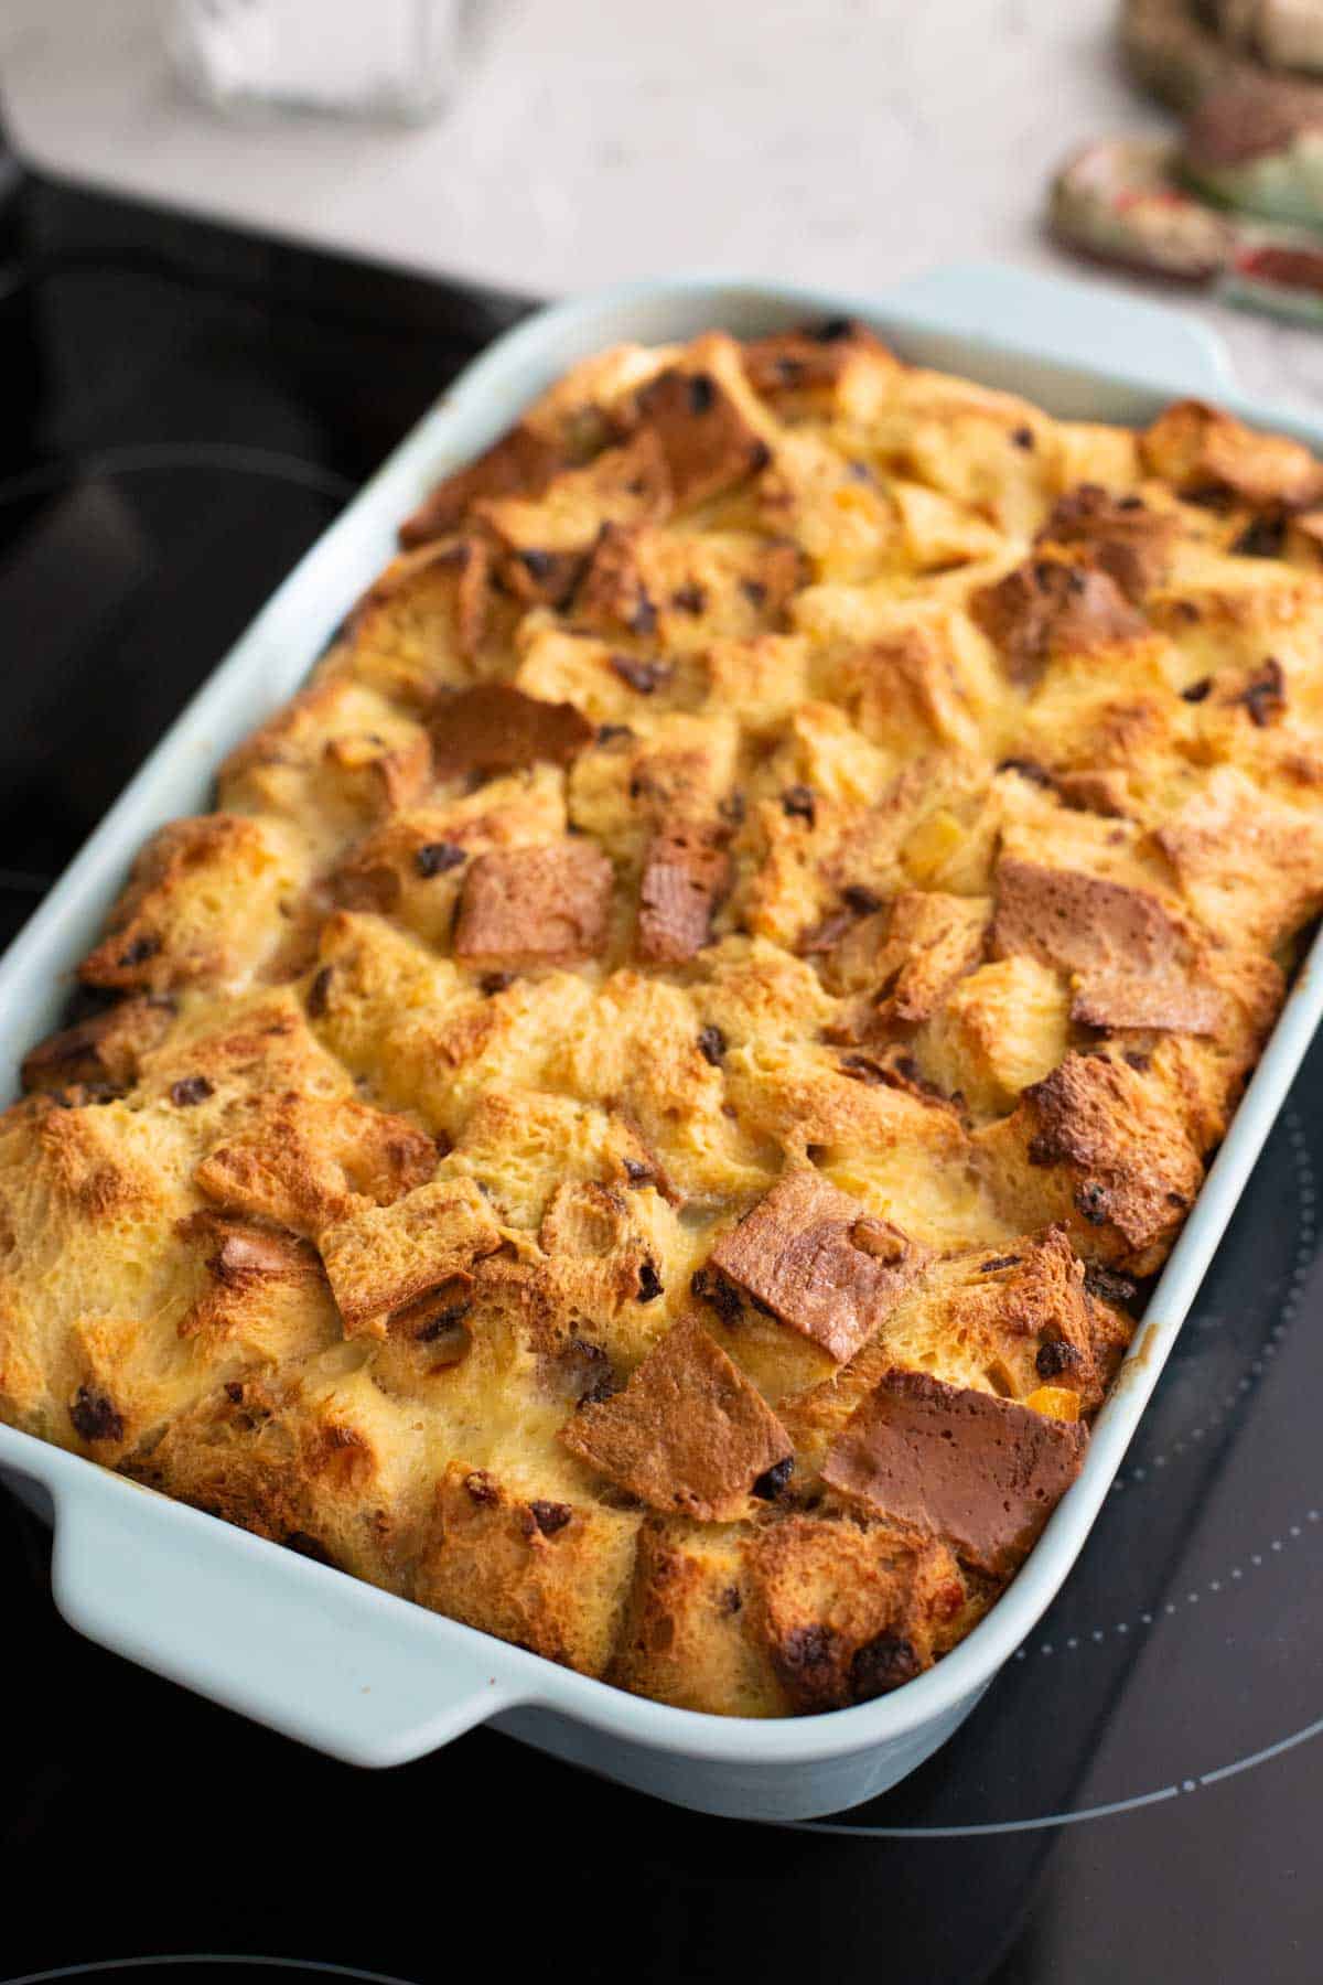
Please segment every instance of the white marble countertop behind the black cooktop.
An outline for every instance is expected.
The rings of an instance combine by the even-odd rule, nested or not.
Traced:
[[[403,129],[194,103],[161,0],[4,0],[4,117],[65,181],[530,294],[674,270],[871,288],[988,258],[1121,280],[1039,232],[1065,151],[1160,123],[1121,73],[1115,0],[484,0],[470,16],[450,107]],[[1323,333],[1174,302],[1216,322],[1246,389],[1323,405]]]

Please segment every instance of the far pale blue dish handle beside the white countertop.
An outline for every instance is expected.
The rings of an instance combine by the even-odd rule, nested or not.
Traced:
[[[958,262],[879,298],[926,331],[968,347],[1055,359],[1079,371],[1150,379],[1172,395],[1224,395],[1234,389],[1232,361],[1214,330],[1168,304],[1105,290],[1101,284],[1037,276],[1000,262]]]

